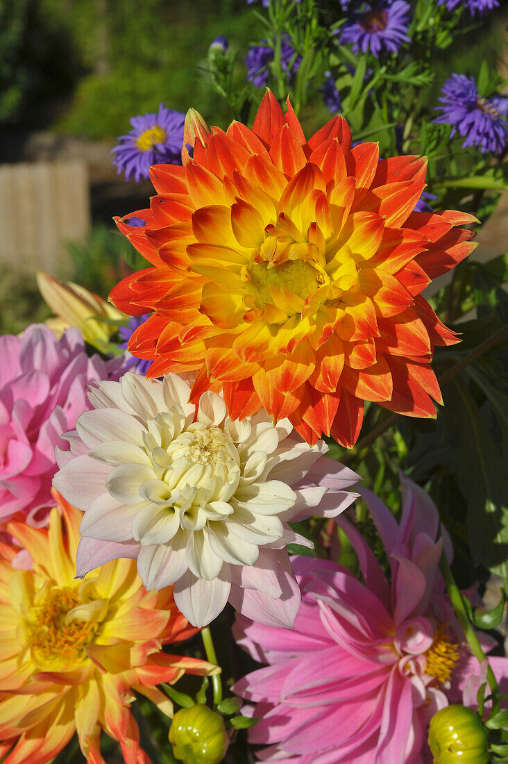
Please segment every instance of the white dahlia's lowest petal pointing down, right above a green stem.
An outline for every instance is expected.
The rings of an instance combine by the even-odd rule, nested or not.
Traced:
[[[226,567],[222,568],[220,578],[213,581],[196,578],[187,571],[174,584],[176,607],[193,626],[201,629],[222,613],[230,589],[231,581]]]

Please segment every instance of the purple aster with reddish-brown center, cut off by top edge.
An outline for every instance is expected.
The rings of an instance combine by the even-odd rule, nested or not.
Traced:
[[[409,43],[406,32],[411,8],[406,0],[364,2],[360,10],[351,11],[348,21],[338,29],[339,42],[352,44],[353,53],[370,53],[379,58],[381,50],[397,53]]]

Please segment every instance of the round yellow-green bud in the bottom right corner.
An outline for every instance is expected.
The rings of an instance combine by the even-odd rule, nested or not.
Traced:
[[[489,764],[488,743],[489,734],[471,708],[447,706],[430,721],[434,764]]]

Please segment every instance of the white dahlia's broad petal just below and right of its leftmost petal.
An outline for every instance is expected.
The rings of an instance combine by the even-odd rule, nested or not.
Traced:
[[[83,515],[79,533],[100,541],[131,541],[132,520],[142,506],[122,504],[110,494],[102,494]]]

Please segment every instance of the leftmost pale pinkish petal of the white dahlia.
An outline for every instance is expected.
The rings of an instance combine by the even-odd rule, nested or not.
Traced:
[[[104,493],[110,471],[111,467],[102,465],[100,461],[88,456],[76,456],[57,472],[53,486],[73,507],[86,510]]]

